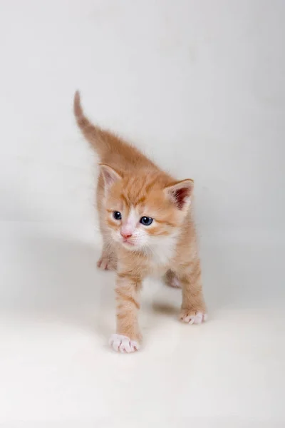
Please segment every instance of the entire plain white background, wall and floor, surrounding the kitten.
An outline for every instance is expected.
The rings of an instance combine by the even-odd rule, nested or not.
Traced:
[[[0,421],[284,420],[284,19],[282,0],[1,0]],[[209,323],[180,326],[180,292],[150,280],[138,355],[105,346],[114,277],[95,270],[76,89],[196,183]]]

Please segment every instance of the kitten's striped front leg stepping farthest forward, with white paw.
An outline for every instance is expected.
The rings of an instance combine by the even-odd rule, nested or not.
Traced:
[[[140,347],[138,326],[139,292],[142,280],[132,272],[118,272],[115,287],[117,303],[117,332],[110,337],[115,351],[134,352]]]

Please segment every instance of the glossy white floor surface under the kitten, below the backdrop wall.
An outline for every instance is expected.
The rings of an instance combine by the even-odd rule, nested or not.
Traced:
[[[4,427],[285,426],[284,236],[204,233],[209,321],[180,324],[180,290],[147,280],[142,349],[120,355],[93,226],[0,231]]]

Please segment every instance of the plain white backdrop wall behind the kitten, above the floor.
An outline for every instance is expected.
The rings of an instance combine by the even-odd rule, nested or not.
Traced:
[[[86,223],[86,113],[196,181],[200,229],[284,226],[284,1],[1,1],[1,220]]]

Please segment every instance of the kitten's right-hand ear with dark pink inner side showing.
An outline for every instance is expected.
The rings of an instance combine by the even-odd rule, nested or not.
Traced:
[[[187,180],[178,181],[178,183],[167,186],[164,192],[167,198],[175,203],[179,210],[187,210],[191,203],[190,196],[193,187],[194,181],[188,178]]]

